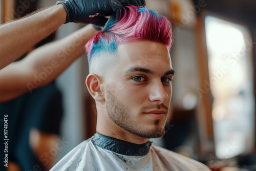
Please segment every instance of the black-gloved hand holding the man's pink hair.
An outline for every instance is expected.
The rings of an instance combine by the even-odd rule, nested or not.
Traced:
[[[116,14],[120,17],[120,11],[128,5],[143,6],[145,0],[66,0],[58,1],[67,11],[66,23],[83,23],[104,26],[108,18],[104,16]]]

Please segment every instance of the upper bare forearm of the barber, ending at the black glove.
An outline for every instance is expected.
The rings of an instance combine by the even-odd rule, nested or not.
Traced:
[[[0,26],[0,70],[66,22],[62,5]]]

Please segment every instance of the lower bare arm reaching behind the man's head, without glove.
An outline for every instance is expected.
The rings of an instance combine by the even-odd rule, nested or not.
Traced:
[[[32,51],[0,70],[0,102],[13,99],[53,81],[84,53],[84,45],[98,31],[87,25],[60,40]]]

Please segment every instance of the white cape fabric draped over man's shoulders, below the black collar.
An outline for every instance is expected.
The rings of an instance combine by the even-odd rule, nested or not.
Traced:
[[[93,138],[93,137],[92,137]],[[50,171],[74,170],[178,170],[210,171],[204,164],[167,149],[151,145],[144,156],[127,156],[96,146],[92,138],[83,141]]]

